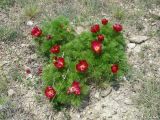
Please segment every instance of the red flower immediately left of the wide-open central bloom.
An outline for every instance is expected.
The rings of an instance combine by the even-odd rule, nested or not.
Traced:
[[[64,65],[65,65],[64,58],[62,58],[62,57],[57,58],[57,59],[54,61],[53,64],[54,64],[54,66],[55,66],[57,69],[62,69],[62,68],[64,68]]]

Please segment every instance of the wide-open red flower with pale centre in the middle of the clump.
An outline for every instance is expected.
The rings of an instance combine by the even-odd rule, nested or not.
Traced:
[[[76,64],[76,70],[78,72],[86,72],[88,69],[88,63],[86,60],[80,60],[78,64]]]

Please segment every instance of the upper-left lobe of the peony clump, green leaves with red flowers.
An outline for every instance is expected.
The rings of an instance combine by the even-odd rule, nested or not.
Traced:
[[[75,31],[68,19],[58,17],[53,21],[43,22],[42,28],[33,27],[31,35],[39,52],[49,57],[50,52],[59,52],[60,45],[72,41],[75,38]]]

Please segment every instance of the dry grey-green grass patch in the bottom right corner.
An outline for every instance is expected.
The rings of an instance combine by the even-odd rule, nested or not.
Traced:
[[[142,120],[160,119],[160,82],[155,79],[143,81],[136,102],[139,109],[143,112]]]

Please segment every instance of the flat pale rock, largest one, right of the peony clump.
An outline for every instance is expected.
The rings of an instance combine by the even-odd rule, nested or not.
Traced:
[[[145,42],[146,40],[148,40],[147,36],[132,36],[129,41],[132,43],[137,43],[140,44],[142,42]]]

